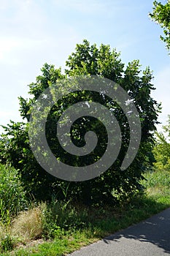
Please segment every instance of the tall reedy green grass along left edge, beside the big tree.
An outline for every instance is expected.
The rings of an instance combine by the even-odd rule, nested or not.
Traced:
[[[26,210],[28,203],[18,170],[0,165],[0,251],[12,250],[15,238],[11,235],[11,223],[18,213]]]

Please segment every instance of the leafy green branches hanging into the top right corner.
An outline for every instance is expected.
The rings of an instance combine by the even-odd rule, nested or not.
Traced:
[[[153,2],[153,11],[150,13],[150,18],[158,23],[161,28],[163,28],[163,33],[165,37],[161,36],[161,40],[166,43],[166,48],[170,49],[170,1],[168,0],[166,4],[161,4],[161,2]]]

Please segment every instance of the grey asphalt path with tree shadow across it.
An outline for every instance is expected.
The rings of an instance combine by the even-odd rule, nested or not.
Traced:
[[[121,230],[72,256],[167,256],[170,255],[170,208],[137,225]],[[70,256],[71,256],[70,255]]]

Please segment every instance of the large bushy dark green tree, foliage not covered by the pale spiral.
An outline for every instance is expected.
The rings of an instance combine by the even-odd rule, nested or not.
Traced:
[[[53,65],[49,64],[45,64],[41,70],[42,75],[36,78],[36,83],[29,85],[31,99],[19,98],[20,114],[26,120],[26,124],[12,122],[4,127],[6,134],[2,135],[0,144],[1,161],[8,162],[20,169],[28,191],[33,193],[34,197],[41,199],[46,199],[47,195],[50,197],[55,193],[60,199],[64,195],[84,203],[112,203],[113,201],[116,202],[120,195],[128,196],[140,191],[142,187],[139,181],[143,177],[142,173],[146,165],[150,162],[148,152],[152,151],[153,131],[155,131],[155,124],[157,124],[159,108],[158,103],[150,96],[154,89],[151,83],[152,72],[150,72],[150,68],[147,67],[142,72],[139,61],[131,61],[125,67],[120,59],[120,53],[117,53],[115,49],[111,50],[109,45],[101,44],[97,48],[96,44],[90,45],[87,40],[84,40],[82,44],[77,44],[75,52],[66,61],[64,74],[61,73],[61,69],[55,69]],[[28,142],[28,120],[33,108],[32,105],[39,95],[56,80],[75,75],[98,75],[113,80],[115,83],[119,83],[134,101],[142,124],[142,140],[134,162],[125,171],[120,170],[120,166],[130,138],[128,120],[116,102],[93,91],[77,91],[58,100],[50,110],[47,119],[47,141],[53,154],[70,165],[88,165],[89,162],[101,157],[107,143],[104,140],[106,130],[99,121],[93,118],[79,118],[72,127],[73,140],[77,146],[84,143],[85,130],[92,129],[96,132],[99,146],[96,147],[93,155],[90,154],[89,157],[84,158],[68,156],[56,138],[56,122],[63,110],[75,102],[85,99],[100,102],[112,110],[119,121],[122,133],[120,154],[112,167],[97,178],[88,181],[69,182],[50,176],[36,162]],[[58,90],[60,90],[59,87]],[[42,191],[46,191],[47,195],[42,195]],[[112,196],[113,191],[117,197]]]

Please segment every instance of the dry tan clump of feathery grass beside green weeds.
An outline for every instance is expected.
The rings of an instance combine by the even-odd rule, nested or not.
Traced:
[[[42,210],[40,207],[23,211],[14,219],[11,225],[12,236],[30,240],[42,235]]]

